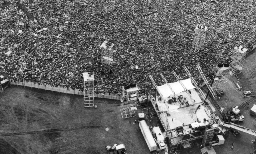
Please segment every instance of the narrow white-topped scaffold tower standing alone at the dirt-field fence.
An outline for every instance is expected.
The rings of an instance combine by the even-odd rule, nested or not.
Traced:
[[[84,107],[94,107],[94,74],[83,73],[84,77]]]

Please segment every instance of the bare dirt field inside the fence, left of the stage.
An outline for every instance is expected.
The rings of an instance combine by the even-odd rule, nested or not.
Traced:
[[[21,153],[108,154],[106,146],[126,144],[129,154],[149,154],[135,118],[122,119],[120,102],[13,86],[0,95],[0,136]],[[106,131],[108,128],[108,131]]]

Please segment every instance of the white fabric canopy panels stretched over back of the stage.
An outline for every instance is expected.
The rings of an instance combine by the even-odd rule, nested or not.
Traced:
[[[182,84],[185,86],[187,90],[194,89],[196,87],[193,86],[191,83],[191,79],[188,78],[186,80],[180,80]],[[180,84],[180,82],[173,82],[173,83],[168,83],[169,86],[172,88],[175,94],[179,94],[181,92],[184,92],[184,88]],[[162,94],[163,97],[169,97],[170,95],[174,95],[173,92],[170,90],[169,86],[167,84],[164,84],[162,86],[157,86],[159,92]]]

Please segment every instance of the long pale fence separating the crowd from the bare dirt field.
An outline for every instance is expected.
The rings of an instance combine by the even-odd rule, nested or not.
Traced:
[[[24,87],[30,87],[30,88],[36,88],[36,89],[42,89],[42,90],[48,90],[48,91],[53,91],[53,92],[59,92],[59,93],[66,93],[66,94],[73,94],[73,95],[84,95],[84,92],[82,92],[79,89],[75,89],[75,90],[70,90],[68,88],[61,88],[61,87],[53,87],[51,85],[39,85],[39,84],[35,84],[33,82],[28,82],[28,81],[24,81],[24,80],[20,80],[20,81],[16,81],[16,82],[11,82],[12,85],[15,86],[24,86]],[[88,92],[86,92],[86,95],[88,95]],[[98,98],[106,98],[106,99],[116,99],[116,100],[120,100],[122,99],[121,95],[117,95],[117,94],[95,94],[94,93],[94,97],[98,97]]]

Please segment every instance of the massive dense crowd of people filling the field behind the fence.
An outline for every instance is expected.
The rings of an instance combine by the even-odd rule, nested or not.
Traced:
[[[96,93],[117,94],[132,83],[143,92],[148,75],[158,85],[164,84],[159,73],[175,82],[171,70],[185,79],[186,66],[199,81],[200,64],[210,78],[217,64],[232,60],[236,45],[255,44],[252,0],[12,1],[0,2],[0,71],[16,80],[83,89],[82,73],[93,71]],[[203,51],[192,49],[198,23],[208,27]],[[112,74],[100,66],[106,40],[115,43]]]

